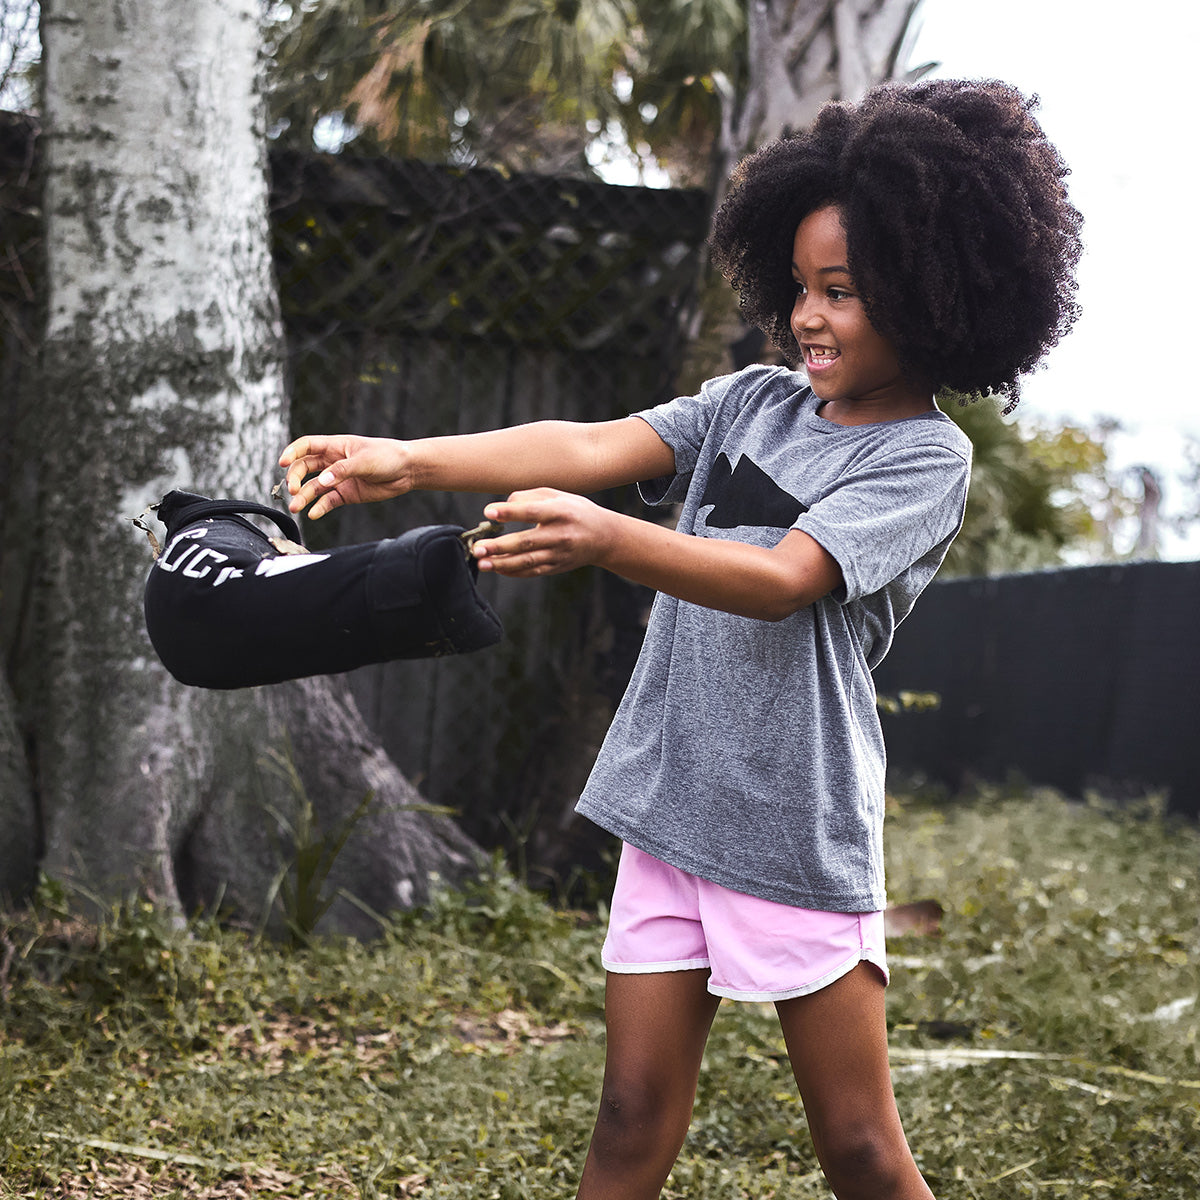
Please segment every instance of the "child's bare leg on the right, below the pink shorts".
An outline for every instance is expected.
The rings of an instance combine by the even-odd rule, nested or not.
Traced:
[[[838,1200],[932,1200],[900,1127],[883,1010],[869,962],[775,1006],[812,1144]]]

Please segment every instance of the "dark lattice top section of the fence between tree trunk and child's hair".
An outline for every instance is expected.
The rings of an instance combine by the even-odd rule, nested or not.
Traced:
[[[272,167],[294,324],[643,360],[676,342],[703,193],[336,156],[280,155]]]

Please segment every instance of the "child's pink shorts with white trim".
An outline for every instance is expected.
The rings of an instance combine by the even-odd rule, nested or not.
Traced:
[[[882,912],[817,912],[709,883],[634,846],[620,851],[601,959],[606,971],[707,968],[731,1000],[792,1000],[859,962],[888,980]]]

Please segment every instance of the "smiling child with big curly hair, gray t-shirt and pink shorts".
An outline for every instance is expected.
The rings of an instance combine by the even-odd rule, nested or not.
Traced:
[[[883,743],[871,670],[958,532],[970,445],[942,386],[1016,403],[1074,320],[1066,168],[995,83],[829,104],[737,170],[714,260],[804,376],[752,366],[590,425],[305,437],[290,508],[511,493],[509,576],[649,584],[646,644],[578,811],[624,841],[605,1078],[580,1196],[656,1196],[720,997],[775,1002],[840,1200],[929,1196],[888,1070]],[[638,481],[678,530],[584,493]]]

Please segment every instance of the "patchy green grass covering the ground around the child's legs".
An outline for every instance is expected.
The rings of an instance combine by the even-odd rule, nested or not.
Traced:
[[[949,1198],[1193,1200],[1200,830],[1054,794],[895,803],[893,1069]],[[53,887],[0,919],[0,1198],[574,1194],[601,928],[498,871],[289,949]],[[768,1006],[722,1006],[673,1198],[828,1196]]]

